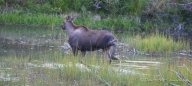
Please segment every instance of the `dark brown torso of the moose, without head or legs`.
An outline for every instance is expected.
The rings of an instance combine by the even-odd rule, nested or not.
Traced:
[[[106,30],[77,29],[69,37],[68,41],[72,48],[78,48],[82,51],[93,51],[105,48],[108,42],[113,39],[113,34]]]

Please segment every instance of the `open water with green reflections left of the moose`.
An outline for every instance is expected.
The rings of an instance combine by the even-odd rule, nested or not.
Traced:
[[[64,34],[47,27],[2,26],[0,31],[0,56],[7,54],[29,54],[45,50],[60,49]]]

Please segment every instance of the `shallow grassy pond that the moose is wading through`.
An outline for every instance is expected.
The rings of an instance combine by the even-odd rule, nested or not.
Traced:
[[[128,37],[125,34],[116,35],[118,39],[122,39]],[[74,57],[68,46],[67,37],[66,31],[61,30],[60,27],[1,25],[0,85],[115,85],[110,81],[116,81],[117,78],[121,78],[120,76],[111,80],[110,77],[105,77],[105,74],[102,75],[102,72],[96,75],[96,72],[102,69],[102,65],[107,65],[104,66],[104,68],[107,68],[107,73],[114,72],[115,74],[133,75],[134,77],[141,76],[140,81],[154,79],[143,78],[151,74],[154,76],[161,75],[160,73],[154,73],[154,71],[161,70],[161,68],[167,68],[166,71],[168,71],[175,67],[182,67],[187,69],[185,71],[187,74],[190,74],[192,70],[190,55],[182,55],[178,52],[171,55],[156,56],[146,53],[138,54],[134,49],[130,50],[129,45],[121,42],[121,40],[117,51],[117,56],[121,60],[113,61],[111,65],[106,63],[101,50],[89,52],[84,58],[81,58],[80,55]],[[87,64],[80,63],[79,59]],[[73,69],[65,70],[66,67],[74,67],[75,71]],[[150,71],[151,69],[154,71]],[[174,70],[172,69],[172,71]],[[70,72],[73,73],[70,74]],[[90,77],[90,82],[85,84],[84,82],[87,81],[89,74],[86,75],[83,72],[90,73],[97,76],[97,78]],[[80,76],[76,75],[76,73],[80,74]],[[190,77],[187,78],[191,80],[191,76],[190,74]],[[175,77],[177,78],[176,75]],[[178,80],[175,77],[173,80]],[[166,84],[170,83],[170,81],[169,78],[168,82],[162,83]],[[137,82],[124,83],[122,79],[117,83],[119,85],[133,85]]]

